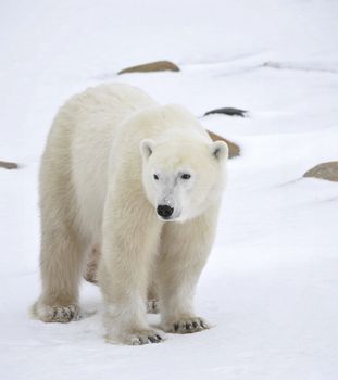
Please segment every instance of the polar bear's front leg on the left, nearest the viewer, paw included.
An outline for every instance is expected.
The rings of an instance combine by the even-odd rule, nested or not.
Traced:
[[[140,210],[139,205],[125,206],[120,202],[105,207],[99,284],[105,303],[109,343],[138,345],[158,343],[164,338],[162,331],[147,322],[149,271],[162,224],[146,205],[147,210]]]

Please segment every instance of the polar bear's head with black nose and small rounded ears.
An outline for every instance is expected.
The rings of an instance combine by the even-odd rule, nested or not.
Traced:
[[[185,221],[220,200],[228,148],[223,141],[140,142],[142,181],[160,219]]]

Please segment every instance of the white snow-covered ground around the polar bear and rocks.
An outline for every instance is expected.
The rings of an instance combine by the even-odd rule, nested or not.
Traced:
[[[338,379],[338,185],[301,179],[338,160],[335,0],[0,2],[0,378]],[[121,68],[172,60],[179,73]],[[197,308],[215,326],[163,344],[105,344],[98,313],[28,318],[39,293],[37,170],[58,107],[102,81],[136,85],[242,148],[228,164]],[[159,321],[158,316],[150,317]]]

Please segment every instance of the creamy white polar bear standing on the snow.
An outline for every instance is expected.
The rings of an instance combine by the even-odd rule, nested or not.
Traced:
[[[100,85],[68,100],[41,160],[34,316],[79,318],[78,284],[95,246],[108,342],[157,343],[164,332],[209,328],[193,293],[214,240],[227,154],[184,107],[161,106],[132,86]],[[154,294],[161,330],[147,322]]]

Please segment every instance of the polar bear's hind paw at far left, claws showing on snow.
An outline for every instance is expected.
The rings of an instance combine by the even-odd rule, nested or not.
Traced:
[[[38,318],[43,322],[66,324],[72,320],[80,319],[79,307],[76,304],[49,306],[37,302],[32,307],[32,314],[35,318]]]

